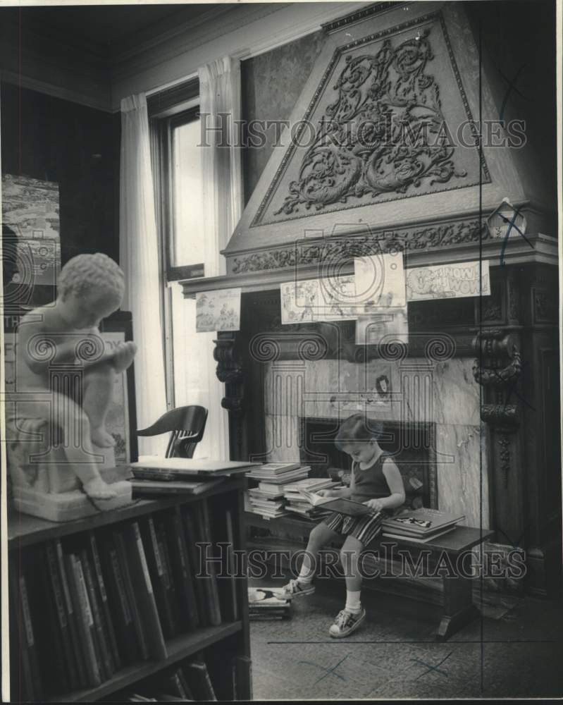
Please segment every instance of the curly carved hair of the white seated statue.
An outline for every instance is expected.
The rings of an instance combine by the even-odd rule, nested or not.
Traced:
[[[119,299],[125,293],[123,270],[101,252],[69,259],[58,276],[58,293],[63,300],[70,292],[80,296],[92,288],[101,293],[114,293]]]

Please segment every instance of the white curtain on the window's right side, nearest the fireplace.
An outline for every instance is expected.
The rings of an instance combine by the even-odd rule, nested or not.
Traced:
[[[205,133],[202,131],[205,139],[201,147],[205,276],[220,276],[225,274],[225,258],[220,252],[227,245],[244,204],[240,148],[236,146],[240,140],[235,132],[235,121],[240,120],[239,61],[225,57],[199,69],[199,112],[207,128]],[[214,127],[222,131],[212,130]],[[175,291],[174,295],[178,297],[180,292]],[[180,388],[185,395],[182,403],[202,403],[209,410],[206,432],[196,457],[228,460],[228,414],[221,407],[225,385],[216,377],[213,357],[213,341],[217,336],[195,333],[195,302],[185,300],[185,304],[185,321],[191,333],[187,335],[187,360],[181,372],[175,362],[176,404]],[[178,355],[175,359],[178,360]]]

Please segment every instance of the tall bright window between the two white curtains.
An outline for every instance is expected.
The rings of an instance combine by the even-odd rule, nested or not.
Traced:
[[[191,89],[187,99],[176,91],[171,99],[161,95],[147,101],[161,239],[166,398],[170,408],[186,404],[209,407],[209,367],[214,369],[205,348],[207,336],[195,332],[195,302],[183,297],[178,284],[182,279],[204,276],[199,105],[193,85]],[[204,442],[199,443],[197,455],[204,447]]]

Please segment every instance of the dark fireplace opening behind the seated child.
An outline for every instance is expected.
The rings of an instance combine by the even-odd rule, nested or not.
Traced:
[[[407,495],[405,507],[438,508],[435,424],[379,421],[384,439],[379,444],[393,456]],[[299,460],[310,465],[310,477],[332,477],[349,484],[352,460],[335,446],[340,419],[299,418]]]

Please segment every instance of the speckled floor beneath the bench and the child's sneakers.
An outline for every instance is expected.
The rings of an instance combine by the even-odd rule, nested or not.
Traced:
[[[255,700],[563,696],[562,602],[525,598],[440,643],[435,622],[366,591],[366,622],[337,641],[328,627],[343,590],[319,584],[294,599],[291,620],[251,623]]]

